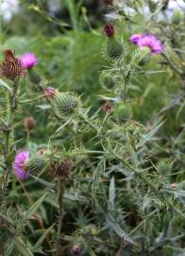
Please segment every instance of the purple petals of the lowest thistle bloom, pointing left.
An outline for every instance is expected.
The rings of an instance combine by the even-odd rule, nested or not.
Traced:
[[[26,179],[29,172],[25,171],[25,161],[29,158],[27,151],[20,151],[16,156],[13,163],[13,171],[18,179]]]

